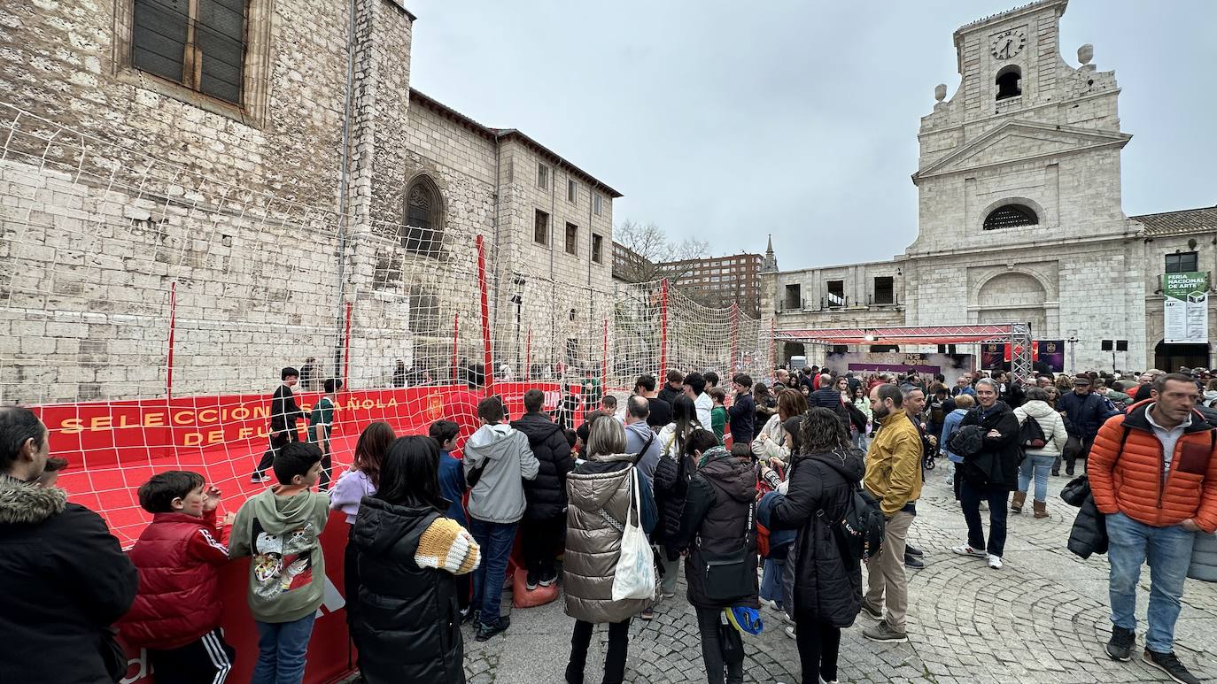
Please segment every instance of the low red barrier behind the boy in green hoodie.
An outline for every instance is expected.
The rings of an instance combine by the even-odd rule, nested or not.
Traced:
[[[343,589],[342,554],[347,547],[346,515],[330,515],[321,532],[321,549],[325,554],[325,601],[320,616],[313,626],[313,639],[308,645],[308,665],[304,669],[305,684],[325,684],[338,680],[352,672],[348,662],[354,662],[354,652],[348,651],[347,611]],[[258,661],[258,628],[246,603],[249,559],[232,561],[220,569],[220,592],[224,595],[224,640],[236,649],[236,658],[229,682],[248,682]],[[189,610],[189,606],[185,606]],[[349,658],[348,658],[349,656]],[[129,665],[122,684],[153,684],[156,677],[148,672],[147,652],[128,649]]]

